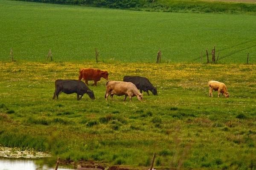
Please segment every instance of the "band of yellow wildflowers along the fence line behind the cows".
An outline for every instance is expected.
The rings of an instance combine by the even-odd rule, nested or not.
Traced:
[[[38,81],[78,79],[80,68],[99,68],[108,71],[109,80],[122,81],[125,75],[147,77],[152,84],[180,85],[184,88],[207,86],[209,80],[230,85],[239,82],[254,84],[256,65],[243,64],[153,64],[104,62],[0,62],[2,81]],[[241,81],[236,81],[240,79]],[[154,82],[154,83],[153,83]]]

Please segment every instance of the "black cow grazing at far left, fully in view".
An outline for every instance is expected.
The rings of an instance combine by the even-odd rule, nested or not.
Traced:
[[[55,99],[55,96],[61,94],[61,92],[64,92],[65,94],[77,94],[77,100],[80,100],[84,94],[88,94],[88,96],[91,99],[95,99],[95,96],[93,94],[93,91],[91,91],[84,82],[79,80],[63,80],[63,79],[57,79],[55,81],[55,92],[53,95],[53,99]],[[81,95],[81,97],[79,97]]]

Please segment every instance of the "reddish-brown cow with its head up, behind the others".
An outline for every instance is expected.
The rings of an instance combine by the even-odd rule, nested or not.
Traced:
[[[108,79],[108,71],[101,71],[98,68],[81,68],[79,70],[78,80],[84,79],[85,83],[88,85],[88,80],[94,80],[95,86],[101,78]]]

